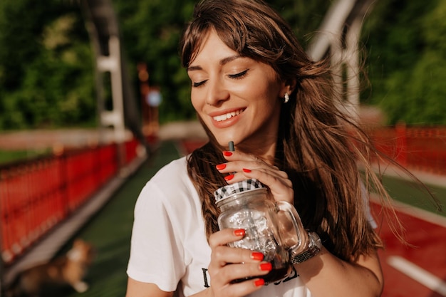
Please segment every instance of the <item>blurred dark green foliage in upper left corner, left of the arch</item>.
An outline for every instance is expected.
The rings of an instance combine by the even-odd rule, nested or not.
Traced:
[[[78,4],[0,1],[0,129],[94,125],[92,61]]]

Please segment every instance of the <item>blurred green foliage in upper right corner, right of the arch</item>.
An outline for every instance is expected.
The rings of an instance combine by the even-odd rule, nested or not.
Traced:
[[[377,1],[365,21],[366,103],[390,124],[446,125],[446,1]]]

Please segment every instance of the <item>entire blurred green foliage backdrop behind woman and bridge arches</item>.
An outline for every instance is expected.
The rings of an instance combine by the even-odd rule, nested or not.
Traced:
[[[0,1],[0,130],[93,126],[93,51],[79,0]],[[333,1],[269,0],[308,44]],[[160,120],[195,118],[177,44],[194,0],[113,0],[123,52],[138,95],[136,66],[161,88]],[[363,43],[371,90],[389,123],[446,125],[446,2],[376,1]],[[139,98],[135,98],[139,101]]]

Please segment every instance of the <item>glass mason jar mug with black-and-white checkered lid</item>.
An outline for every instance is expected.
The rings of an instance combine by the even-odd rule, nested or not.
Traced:
[[[306,231],[296,209],[288,202],[274,202],[269,198],[268,189],[257,179],[221,187],[214,196],[221,210],[219,229],[245,230],[243,239],[228,246],[264,254],[264,261],[272,265],[272,270],[261,277],[265,283],[281,281],[289,276],[289,250],[306,244],[306,238],[302,236]]]

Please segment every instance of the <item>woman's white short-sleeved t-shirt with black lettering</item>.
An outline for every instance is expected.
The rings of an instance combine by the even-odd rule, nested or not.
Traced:
[[[180,296],[190,296],[209,287],[210,254],[201,202],[182,157],[157,172],[138,197],[127,273],[163,291],[178,288]],[[250,296],[311,297],[311,293],[294,271],[289,279]]]

